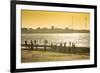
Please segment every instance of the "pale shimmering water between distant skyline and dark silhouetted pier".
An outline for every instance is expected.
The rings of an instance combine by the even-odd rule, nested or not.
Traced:
[[[38,44],[43,44],[44,40],[48,40],[48,44],[64,43],[67,45],[69,42],[76,43],[76,46],[89,47],[90,46],[90,34],[89,33],[33,33],[22,34],[22,43],[25,40],[30,43],[30,40],[37,40]]]

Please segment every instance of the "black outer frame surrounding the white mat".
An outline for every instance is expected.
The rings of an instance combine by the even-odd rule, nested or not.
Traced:
[[[57,67],[41,67],[41,68],[24,68],[16,69],[16,5],[40,5],[40,6],[56,6],[56,7],[72,7],[72,8],[87,8],[94,9],[94,64],[89,65],[73,65],[73,66],[57,66]],[[30,72],[30,71],[45,71],[45,70],[61,70],[61,69],[79,69],[97,67],[97,6],[96,5],[79,5],[79,4],[64,4],[64,3],[48,3],[34,1],[11,1],[11,18],[10,18],[10,71],[13,72]]]

